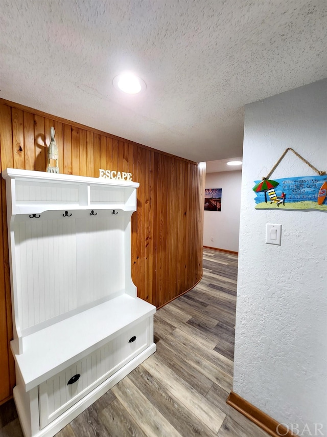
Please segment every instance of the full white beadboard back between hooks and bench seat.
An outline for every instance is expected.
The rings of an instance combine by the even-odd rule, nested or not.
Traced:
[[[124,212],[63,213],[15,217],[22,330],[124,292]]]

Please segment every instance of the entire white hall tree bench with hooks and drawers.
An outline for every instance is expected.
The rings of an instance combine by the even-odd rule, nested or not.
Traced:
[[[52,437],[155,352],[131,279],[135,182],[7,169],[14,400]]]

